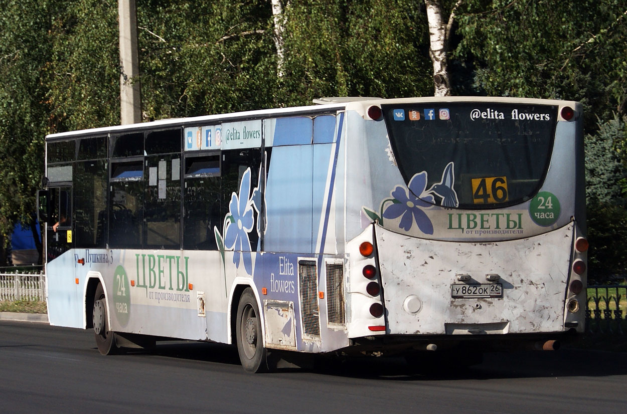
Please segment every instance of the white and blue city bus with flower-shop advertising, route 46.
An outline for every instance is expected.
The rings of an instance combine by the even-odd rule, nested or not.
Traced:
[[[250,372],[583,332],[580,103],[314,103],[48,135],[50,324],[102,354],[234,344]]]

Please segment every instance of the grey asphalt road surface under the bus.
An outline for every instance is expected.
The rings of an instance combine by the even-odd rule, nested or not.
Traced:
[[[101,356],[91,331],[0,321],[0,413],[627,413],[627,354],[488,353],[460,373],[398,359],[251,375],[228,346]]]

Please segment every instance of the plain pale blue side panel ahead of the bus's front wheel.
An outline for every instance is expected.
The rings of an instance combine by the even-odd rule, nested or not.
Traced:
[[[46,264],[48,319],[54,326],[84,328],[83,279],[75,281],[75,251],[69,250]],[[78,277],[78,276],[76,276]]]

